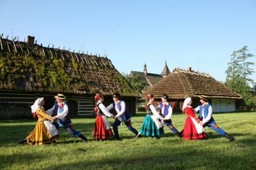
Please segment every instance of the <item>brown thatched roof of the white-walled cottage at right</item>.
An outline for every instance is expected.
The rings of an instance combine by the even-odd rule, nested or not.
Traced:
[[[147,89],[144,95],[146,93],[151,93],[156,98],[167,94],[171,99],[185,99],[199,95],[206,95],[208,98],[242,99],[239,94],[216,81],[209,74],[180,68],[175,68],[167,77]]]

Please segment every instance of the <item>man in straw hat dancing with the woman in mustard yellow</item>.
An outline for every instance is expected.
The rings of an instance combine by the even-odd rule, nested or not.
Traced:
[[[84,137],[77,130],[74,130],[71,126],[71,120],[68,116],[69,108],[66,102],[64,101],[66,97],[63,94],[58,94],[55,96],[55,98],[57,100],[57,104],[46,111],[48,115],[52,115],[52,113],[54,113],[53,120],[55,121],[52,124],[55,125],[57,129],[59,129],[59,127],[62,127],[66,131],[71,133],[71,135],[73,135],[74,137],[80,137],[83,140],[83,142],[86,142],[87,138]]]

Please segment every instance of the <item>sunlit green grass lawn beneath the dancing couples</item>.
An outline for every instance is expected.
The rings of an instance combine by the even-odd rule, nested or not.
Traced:
[[[145,114],[133,116],[139,130]],[[0,121],[0,169],[107,169],[107,170],[253,170],[256,169],[256,112],[213,114],[218,126],[235,137],[234,142],[210,128],[206,140],[183,140],[167,127],[161,139],[135,139],[123,124],[119,126],[121,141],[96,142],[93,138],[95,119],[73,118],[73,128],[89,141],[82,143],[60,129],[57,144],[29,146],[17,144],[30,133],[36,120]],[[174,114],[173,125],[179,131],[186,116]],[[114,119],[109,119],[110,123]]]

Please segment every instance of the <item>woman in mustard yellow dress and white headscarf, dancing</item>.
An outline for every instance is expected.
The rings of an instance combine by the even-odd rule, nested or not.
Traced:
[[[52,116],[46,114],[43,105],[45,100],[43,98],[38,98],[34,105],[31,106],[31,110],[34,118],[38,116],[38,122],[36,123],[35,129],[26,137],[26,139],[21,140],[19,144],[28,142],[30,145],[41,145],[50,144],[56,142],[59,137],[59,132],[57,128],[50,123],[53,120]]]

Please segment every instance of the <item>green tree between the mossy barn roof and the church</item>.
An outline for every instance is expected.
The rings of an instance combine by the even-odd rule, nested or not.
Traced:
[[[122,72],[122,75],[127,80],[127,82],[129,82],[135,88],[136,91],[141,93],[145,87],[145,82],[140,81],[140,75],[130,76],[124,72]]]

